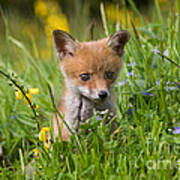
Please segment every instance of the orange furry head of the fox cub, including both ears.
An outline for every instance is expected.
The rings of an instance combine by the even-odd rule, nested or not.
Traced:
[[[123,30],[102,40],[78,42],[66,32],[55,30],[54,46],[67,88],[92,101],[110,96],[129,37]]]

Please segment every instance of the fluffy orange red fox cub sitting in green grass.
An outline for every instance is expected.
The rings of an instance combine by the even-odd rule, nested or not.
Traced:
[[[53,32],[65,82],[58,109],[72,130],[78,130],[79,123],[91,118],[94,110],[108,109],[115,114],[113,85],[122,68],[124,46],[129,37],[123,30],[102,40],[78,42],[64,31]],[[62,123],[59,117],[54,117],[54,136],[57,137],[62,128],[62,139],[68,140],[71,133]]]

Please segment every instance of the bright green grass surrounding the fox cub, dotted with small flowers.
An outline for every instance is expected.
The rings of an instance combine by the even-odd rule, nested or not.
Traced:
[[[0,70],[24,90],[39,88],[33,103],[40,108],[35,118],[23,100],[16,99],[15,87],[0,75],[1,179],[25,179],[34,148],[39,158],[30,179],[179,179],[180,136],[173,129],[180,126],[180,16],[170,12],[163,20],[155,4],[156,18],[151,23],[129,28],[131,40],[115,87],[117,118],[112,121],[118,125],[116,134],[94,116],[81,127],[78,137],[52,142],[48,153],[38,140],[36,122],[52,131],[55,108],[47,84],[58,103],[63,81],[58,62],[54,56],[51,61],[37,59],[6,28]],[[180,12],[178,1],[177,8]],[[112,33],[112,26],[107,27]],[[175,64],[156,53],[157,49],[161,54],[168,49],[168,58]],[[86,129],[91,130],[88,135],[84,135]]]

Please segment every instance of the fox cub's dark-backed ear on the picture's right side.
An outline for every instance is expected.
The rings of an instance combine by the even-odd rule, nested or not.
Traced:
[[[130,34],[126,30],[116,32],[107,41],[107,46],[114,50],[119,56],[123,55],[124,46],[129,41]]]

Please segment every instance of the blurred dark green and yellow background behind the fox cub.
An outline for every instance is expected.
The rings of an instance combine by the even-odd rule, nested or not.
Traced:
[[[176,11],[174,0],[158,1],[164,18],[170,8]],[[0,0],[0,38],[5,42],[5,29],[8,29],[8,33],[17,40],[23,41],[37,59],[51,59],[54,29],[65,30],[78,40],[97,39],[104,36],[100,14],[102,2],[109,24],[115,25],[119,22],[121,28],[126,28],[131,27],[130,21],[133,21],[136,27],[141,26],[141,21],[131,8],[129,0]],[[146,23],[155,18],[153,17],[154,1],[133,0],[133,2]],[[123,11],[125,6],[128,9],[126,13],[128,24],[125,22]],[[8,28],[5,28],[2,13],[8,22],[6,24]],[[4,43],[1,43],[2,55],[6,54],[5,48]],[[16,52],[13,48],[10,48],[10,54]]]

